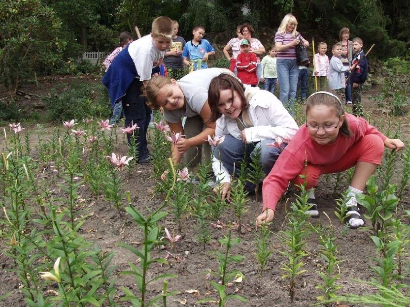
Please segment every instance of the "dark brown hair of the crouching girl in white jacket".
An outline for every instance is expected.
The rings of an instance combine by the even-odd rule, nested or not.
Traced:
[[[248,103],[245,98],[245,91],[243,85],[239,82],[235,76],[229,73],[221,73],[219,76],[214,77],[209,84],[208,89],[208,105],[211,109],[211,116],[208,120],[209,123],[215,122],[222,116],[219,112],[219,95],[223,90],[231,90],[238,93],[240,100],[242,101],[242,110],[248,107]]]

